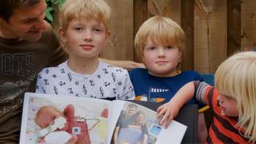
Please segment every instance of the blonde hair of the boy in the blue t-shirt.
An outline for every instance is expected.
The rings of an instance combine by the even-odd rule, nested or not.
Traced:
[[[185,33],[172,19],[162,16],[154,16],[149,18],[139,27],[134,39],[136,53],[140,58],[143,58],[143,50],[146,46],[147,38],[154,43],[162,46],[170,44],[178,46],[178,49],[183,51],[185,42]]]

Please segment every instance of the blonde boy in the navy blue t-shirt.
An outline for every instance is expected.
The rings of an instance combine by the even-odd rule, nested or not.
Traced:
[[[154,16],[142,24],[134,45],[146,69],[130,72],[136,100],[166,103],[187,82],[202,81],[201,75],[195,71],[178,70],[184,42],[184,31],[170,18]],[[192,99],[187,103],[197,102]],[[203,114],[199,114],[198,132],[198,142],[205,142],[207,131]]]

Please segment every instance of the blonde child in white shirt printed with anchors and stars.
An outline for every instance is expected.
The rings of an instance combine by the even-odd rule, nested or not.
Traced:
[[[103,0],[66,0],[59,13],[59,34],[66,62],[43,69],[36,92],[87,98],[133,99],[127,70],[98,60],[110,37],[110,7]]]

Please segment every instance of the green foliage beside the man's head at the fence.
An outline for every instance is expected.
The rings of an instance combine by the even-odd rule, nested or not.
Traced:
[[[46,21],[52,23],[54,21],[54,10],[60,8],[65,0],[46,0]]]

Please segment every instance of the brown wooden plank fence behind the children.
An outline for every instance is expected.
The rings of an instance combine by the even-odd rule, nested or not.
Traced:
[[[162,14],[186,32],[182,70],[214,73],[256,40],[255,0],[106,0],[112,8],[111,38],[102,58],[137,61],[134,34],[147,18]]]

